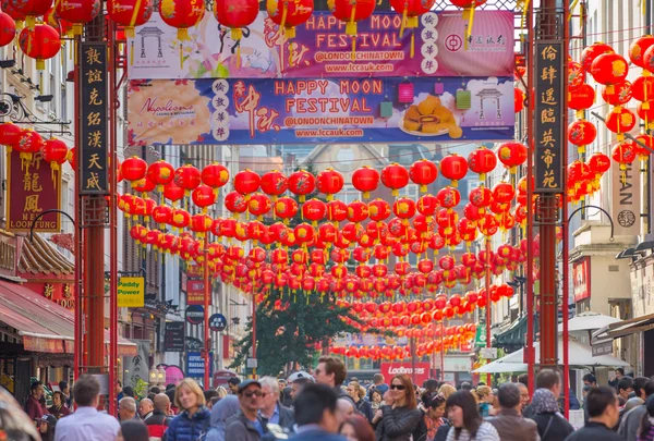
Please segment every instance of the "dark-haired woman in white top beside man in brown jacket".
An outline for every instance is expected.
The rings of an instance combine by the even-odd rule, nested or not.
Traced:
[[[500,441],[495,427],[482,419],[470,392],[451,394],[445,408],[452,425],[447,433],[447,441]]]

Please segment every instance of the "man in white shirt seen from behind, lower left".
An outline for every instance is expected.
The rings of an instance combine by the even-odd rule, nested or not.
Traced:
[[[73,387],[77,409],[57,422],[55,441],[116,440],[120,424],[112,416],[98,412],[99,394],[100,383],[95,377],[80,376]]]

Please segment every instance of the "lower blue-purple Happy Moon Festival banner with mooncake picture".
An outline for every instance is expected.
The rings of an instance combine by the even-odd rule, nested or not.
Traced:
[[[132,81],[131,145],[513,139],[512,77]]]

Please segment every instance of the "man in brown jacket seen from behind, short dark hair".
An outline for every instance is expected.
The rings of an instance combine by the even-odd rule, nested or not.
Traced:
[[[524,385],[524,384],[523,384]],[[513,383],[504,383],[497,391],[499,414],[488,418],[502,441],[538,441],[538,426],[522,416],[520,388]]]

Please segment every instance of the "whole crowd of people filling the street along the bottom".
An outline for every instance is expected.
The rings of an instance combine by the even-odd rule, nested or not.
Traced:
[[[407,375],[387,383],[378,373],[363,385],[348,381],[343,363],[328,356],[313,375],[234,377],[207,390],[184,379],[165,391],[152,388],[142,400],[118,383],[118,418],[104,409],[93,376],[81,376],[72,394],[61,383],[49,408],[44,385],[35,382],[24,409],[44,441],[654,441],[654,380],[616,373],[620,378],[606,387],[593,375],[583,378],[585,424],[579,430],[561,414],[561,379],[554,370],[538,372],[530,396],[521,381],[492,389],[427,380],[419,388]],[[0,440],[37,441],[28,431],[5,436],[2,403]]]

